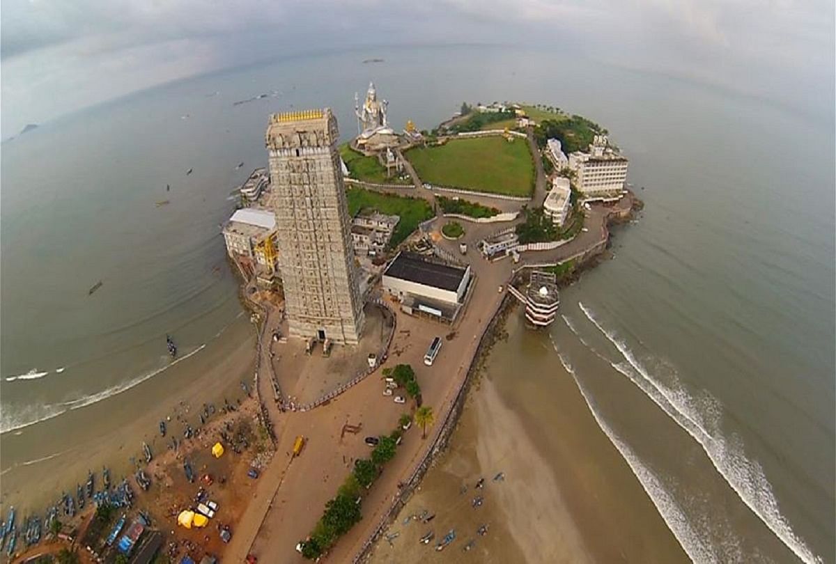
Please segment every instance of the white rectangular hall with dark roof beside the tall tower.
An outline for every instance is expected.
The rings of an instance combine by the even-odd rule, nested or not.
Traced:
[[[383,287],[421,312],[454,318],[471,280],[470,267],[451,267],[400,252],[383,273]]]

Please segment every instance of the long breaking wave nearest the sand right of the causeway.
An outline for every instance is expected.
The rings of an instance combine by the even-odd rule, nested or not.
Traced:
[[[688,521],[685,513],[681,510],[679,504],[676,503],[673,496],[665,489],[665,486],[662,485],[653,470],[645,466],[639,456],[635,455],[633,450],[630,449],[630,446],[621,440],[614,433],[613,429],[609,427],[609,424],[604,421],[604,418],[601,417],[598,409],[596,409],[594,400],[589,397],[586,389],[580,383],[572,365],[563,357],[563,353],[558,351],[554,343],[553,346],[554,350],[558,353],[558,358],[560,358],[560,363],[563,364],[563,368],[572,375],[572,379],[575,385],[578,386],[580,394],[584,396],[584,401],[586,401],[589,407],[589,412],[601,430],[604,431],[604,434],[607,435],[607,438],[614,445],[615,449],[619,451],[624,461],[627,462],[627,465],[630,466],[630,470],[633,471],[633,474],[639,480],[642,489],[645,490],[650,501],[656,507],[656,511],[659,511],[660,516],[665,520],[665,523],[676,537],[676,541],[679,542],[682,550],[686,551],[686,554],[695,562],[720,561],[715,551],[712,550],[712,547],[706,544],[701,536],[691,527],[691,523]]]

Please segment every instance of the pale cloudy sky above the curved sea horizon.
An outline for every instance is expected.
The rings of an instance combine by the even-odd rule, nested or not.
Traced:
[[[511,43],[696,80],[833,120],[833,0],[3,0],[3,137],[288,54]],[[568,56],[568,55],[566,55]]]

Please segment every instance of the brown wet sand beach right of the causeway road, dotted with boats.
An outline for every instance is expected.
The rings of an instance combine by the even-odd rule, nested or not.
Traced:
[[[688,561],[629,466],[595,423],[545,333],[507,321],[448,450],[427,473],[373,562]],[[505,480],[494,481],[498,472]],[[483,490],[474,490],[484,477]],[[461,493],[466,486],[465,493]],[[481,507],[472,508],[475,495]],[[431,523],[405,523],[428,510]],[[477,528],[487,523],[487,536]],[[456,541],[436,552],[450,529]],[[418,539],[435,531],[431,546]],[[463,551],[470,540],[471,551]]]

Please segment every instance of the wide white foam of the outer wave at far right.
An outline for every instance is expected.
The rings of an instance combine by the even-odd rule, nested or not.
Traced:
[[[737,496],[763,522],[772,533],[777,536],[789,550],[807,564],[821,562],[821,556],[813,554],[804,541],[795,534],[787,518],[778,508],[778,502],[772,492],[772,485],[767,480],[762,466],[757,460],[749,460],[745,455],[742,440],[737,435],[731,439],[723,437],[719,431],[715,435],[708,433],[704,426],[705,417],[695,408],[696,402],[686,389],[676,387],[668,389],[660,384],[639,362],[629,347],[612,331],[601,326],[589,307],[578,303],[581,311],[589,321],[604,334],[610,343],[618,349],[628,366],[623,363],[611,363],[613,368],[624,374],[631,382],[641,389],[666,414],[679,424],[701,445],[711,464],[719,472],[726,483],[731,486]],[[712,419],[719,419],[721,408],[716,400],[706,401],[706,415]],[[712,423],[714,421],[711,421]]]

